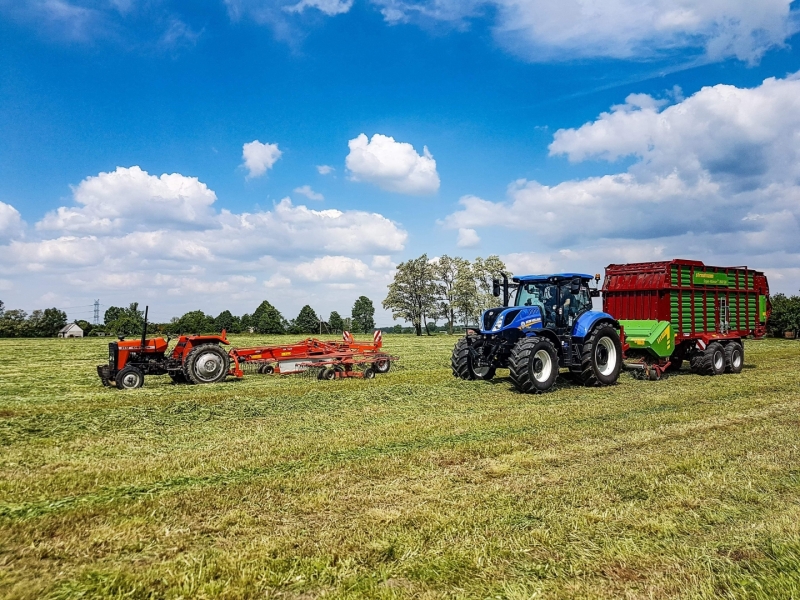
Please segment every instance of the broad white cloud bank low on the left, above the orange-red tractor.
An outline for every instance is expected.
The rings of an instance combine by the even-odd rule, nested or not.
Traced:
[[[408,237],[378,213],[313,210],[289,198],[235,213],[215,207],[216,194],[196,178],[138,167],[87,177],[72,191],[70,205],[24,236],[19,212],[0,203],[7,306],[30,310],[56,293],[64,305],[149,301],[169,319],[198,307],[252,312],[266,295],[287,316],[306,303],[346,311],[362,293],[385,292],[393,263],[373,257],[401,252]]]

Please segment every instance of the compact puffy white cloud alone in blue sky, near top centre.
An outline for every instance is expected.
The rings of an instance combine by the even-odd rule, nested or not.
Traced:
[[[401,194],[434,194],[439,189],[436,161],[427,146],[419,155],[411,144],[379,133],[371,140],[362,133],[348,146],[346,165],[354,181]]]

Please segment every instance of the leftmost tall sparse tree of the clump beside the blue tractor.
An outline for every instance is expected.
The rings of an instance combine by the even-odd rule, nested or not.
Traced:
[[[397,265],[383,307],[392,311],[392,318],[410,322],[416,334],[422,335],[423,322],[436,312],[436,280],[427,254]]]

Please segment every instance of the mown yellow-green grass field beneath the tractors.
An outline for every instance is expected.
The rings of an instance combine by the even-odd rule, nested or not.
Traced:
[[[800,598],[800,343],[523,396],[385,341],[373,381],[121,392],[107,341],[0,340],[0,596]]]

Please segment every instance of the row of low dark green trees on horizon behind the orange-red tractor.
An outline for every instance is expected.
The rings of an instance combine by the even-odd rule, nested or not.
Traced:
[[[114,335],[133,335],[142,331],[144,312],[134,302],[127,308],[112,306],[103,315],[104,324],[93,332]],[[87,324],[88,325],[88,324]],[[349,317],[342,317],[333,311],[327,321],[320,318],[316,311],[306,304],[294,319],[287,320],[269,301],[264,300],[252,314],[236,316],[224,310],[216,317],[202,310],[193,310],[180,317],[174,317],[169,323],[148,324],[151,333],[214,333],[225,329],[228,333],[262,333],[262,334],[330,334],[352,331],[353,333],[370,333],[375,328],[375,307],[372,300],[360,296],[353,304]]]

